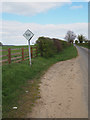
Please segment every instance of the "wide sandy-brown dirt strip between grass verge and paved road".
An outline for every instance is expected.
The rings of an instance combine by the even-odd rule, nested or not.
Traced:
[[[79,57],[54,64],[41,78],[41,99],[27,118],[87,118]]]

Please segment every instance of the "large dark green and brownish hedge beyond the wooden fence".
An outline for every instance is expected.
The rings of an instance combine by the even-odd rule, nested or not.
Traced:
[[[39,37],[36,41],[36,45],[42,57],[52,57],[70,44],[56,38]]]

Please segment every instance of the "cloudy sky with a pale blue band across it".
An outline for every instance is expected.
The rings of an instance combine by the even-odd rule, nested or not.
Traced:
[[[64,38],[68,30],[88,38],[88,0],[53,1],[32,3],[4,0],[0,4],[1,42],[8,45],[27,45],[27,40],[23,37],[27,29],[34,33],[32,44],[40,36]]]

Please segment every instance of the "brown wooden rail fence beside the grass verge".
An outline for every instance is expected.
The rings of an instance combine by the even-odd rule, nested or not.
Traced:
[[[37,47],[31,47],[31,58],[37,56]],[[15,48],[15,49],[4,49],[2,50],[2,55],[0,56],[0,59],[2,58],[2,61],[0,63],[18,63],[20,61],[24,61],[29,59],[29,53],[28,48]]]

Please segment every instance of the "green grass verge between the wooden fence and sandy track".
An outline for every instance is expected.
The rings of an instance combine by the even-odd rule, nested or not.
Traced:
[[[64,61],[77,56],[76,48],[71,45],[52,58],[36,57],[32,59],[32,67],[29,61],[3,65],[2,68],[2,99],[3,117],[24,117],[27,111],[31,111],[35,100],[39,98],[40,77],[54,63]],[[30,95],[25,93],[30,91]],[[13,106],[18,106],[13,110]]]

